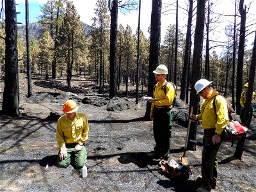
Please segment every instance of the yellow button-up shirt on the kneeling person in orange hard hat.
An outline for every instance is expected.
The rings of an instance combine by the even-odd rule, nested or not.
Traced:
[[[88,140],[88,120],[85,113],[76,112],[73,121],[66,115],[61,116],[57,122],[56,140],[59,148],[65,148],[65,143],[79,143],[83,145]]]

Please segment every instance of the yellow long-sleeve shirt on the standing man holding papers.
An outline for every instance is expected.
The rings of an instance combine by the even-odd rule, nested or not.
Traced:
[[[154,102],[154,104],[151,104],[150,111],[153,113],[154,106],[172,106],[173,99],[175,97],[175,89],[172,86],[171,83],[166,84],[166,94],[164,93],[163,86],[166,83],[166,80],[164,80],[163,84],[159,86],[157,83],[154,88],[154,99],[159,99]]]

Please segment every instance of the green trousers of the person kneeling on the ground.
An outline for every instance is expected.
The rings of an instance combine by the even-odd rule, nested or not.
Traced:
[[[66,168],[69,164],[72,164],[75,169],[81,169],[87,159],[86,148],[83,146],[81,150],[75,152],[75,147],[67,148],[67,157],[62,161],[58,161],[57,166]]]

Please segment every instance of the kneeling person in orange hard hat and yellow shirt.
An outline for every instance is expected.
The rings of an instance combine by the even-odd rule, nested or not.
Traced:
[[[57,166],[66,168],[72,164],[75,169],[83,168],[87,152],[84,143],[88,140],[88,120],[85,113],[77,112],[79,107],[72,99],[62,107],[65,115],[57,122],[56,140],[60,148]]]

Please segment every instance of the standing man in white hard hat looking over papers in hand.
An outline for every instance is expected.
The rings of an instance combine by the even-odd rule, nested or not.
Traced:
[[[153,73],[157,81],[153,91],[153,97],[156,100],[148,100],[148,102],[151,102],[150,118],[153,120],[156,146],[154,152],[148,154],[148,157],[168,159],[170,157],[173,125],[171,106],[176,92],[174,84],[165,79],[166,74],[168,74],[165,65],[159,65]]]

